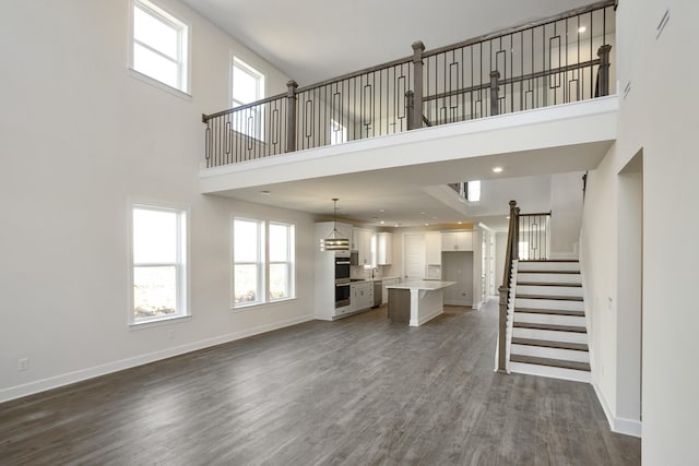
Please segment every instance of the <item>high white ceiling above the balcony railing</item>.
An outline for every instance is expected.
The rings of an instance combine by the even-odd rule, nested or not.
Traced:
[[[300,86],[593,0],[182,0]]]

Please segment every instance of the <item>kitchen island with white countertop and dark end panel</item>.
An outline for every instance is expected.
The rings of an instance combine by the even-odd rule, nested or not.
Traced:
[[[408,280],[387,286],[389,319],[395,323],[419,326],[445,312],[445,288],[455,282]]]

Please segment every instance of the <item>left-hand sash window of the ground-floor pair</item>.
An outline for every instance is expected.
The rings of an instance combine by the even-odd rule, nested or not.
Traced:
[[[264,301],[264,222],[236,218],[233,222],[234,307]]]

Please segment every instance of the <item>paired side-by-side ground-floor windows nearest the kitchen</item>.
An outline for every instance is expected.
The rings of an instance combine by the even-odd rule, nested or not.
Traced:
[[[234,308],[295,297],[295,243],[294,225],[234,218]]]

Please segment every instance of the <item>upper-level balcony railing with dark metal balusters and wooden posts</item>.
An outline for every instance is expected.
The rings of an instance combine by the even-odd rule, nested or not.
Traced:
[[[614,93],[615,1],[203,115],[206,167]]]

